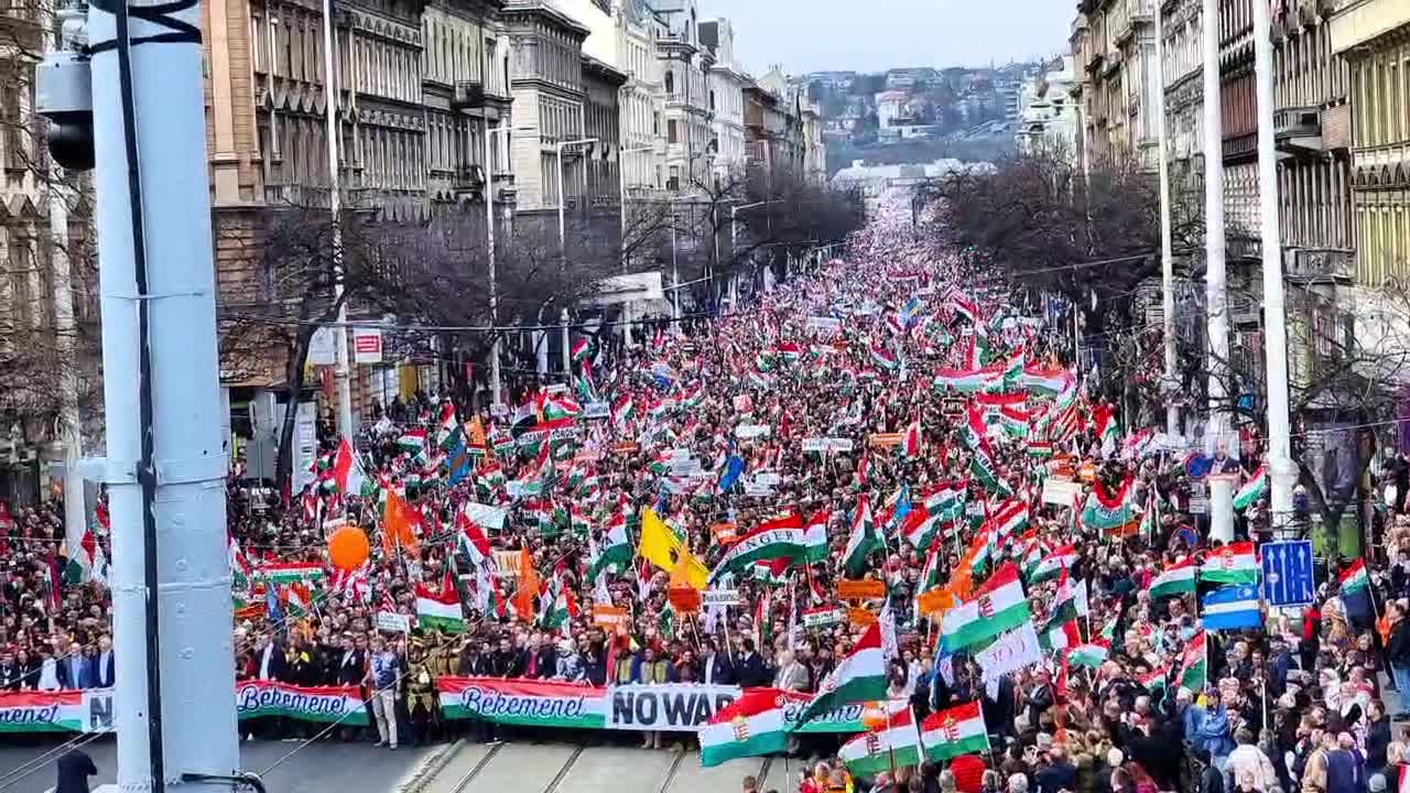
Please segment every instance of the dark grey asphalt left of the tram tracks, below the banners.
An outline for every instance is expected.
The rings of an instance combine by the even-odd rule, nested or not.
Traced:
[[[54,787],[54,762],[24,777],[16,772],[61,741],[54,739],[32,746],[18,746],[17,738],[0,742],[0,793],[45,793]],[[251,741],[241,744],[244,770],[262,773],[286,753],[298,748],[293,741]],[[395,752],[376,749],[371,744],[316,742],[299,749],[274,770],[264,773],[269,793],[392,793],[412,776],[433,752],[431,748],[400,746]],[[94,741],[83,748],[92,755],[99,775],[92,786],[116,782],[114,742],[111,738]]]

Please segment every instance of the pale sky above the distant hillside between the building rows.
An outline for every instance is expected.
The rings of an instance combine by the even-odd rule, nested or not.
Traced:
[[[759,75],[984,66],[1067,48],[1076,0],[699,0],[735,23],[735,49]]]

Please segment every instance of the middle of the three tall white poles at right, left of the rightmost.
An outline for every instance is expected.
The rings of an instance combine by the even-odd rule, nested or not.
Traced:
[[[1206,303],[1208,310],[1208,394],[1210,422],[1206,447],[1217,452],[1228,444],[1230,363],[1228,292],[1224,277],[1224,119],[1220,111],[1220,0],[1203,0],[1201,30],[1204,49],[1204,258]],[[1256,4],[1256,0],[1255,0]],[[1224,477],[1210,478],[1210,536],[1234,539],[1234,484]]]

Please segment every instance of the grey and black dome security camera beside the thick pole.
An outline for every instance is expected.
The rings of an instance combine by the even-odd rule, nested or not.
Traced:
[[[34,106],[49,120],[49,154],[69,171],[93,169],[93,83],[87,55],[48,52],[35,68]]]

